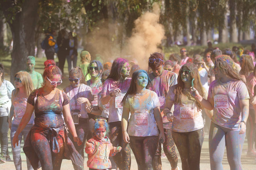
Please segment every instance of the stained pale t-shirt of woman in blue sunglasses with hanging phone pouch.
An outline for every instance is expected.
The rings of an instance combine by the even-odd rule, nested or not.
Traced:
[[[81,84],[80,89],[79,87],[73,88],[71,85],[69,85],[64,88],[63,91],[69,98],[70,111],[78,109],[80,110],[81,118],[88,118],[87,111],[85,110],[85,103],[78,105],[76,104],[75,99],[85,97],[91,102],[93,100],[92,89],[85,84]]]

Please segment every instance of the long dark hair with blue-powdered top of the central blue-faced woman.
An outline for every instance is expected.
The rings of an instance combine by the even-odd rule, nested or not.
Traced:
[[[135,95],[136,94],[136,91],[137,91],[136,79],[137,79],[137,76],[139,75],[139,73],[146,73],[146,75],[148,76],[148,73],[145,70],[137,70],[137,71],[135,71],[133,73],[133,76],[132,76],[131,85],[130,85],[127,93],[123,97],[123,100],[122,100],[121,103],[125,104],[125,99],[127,98],[127,95],[129,95],[129,94]],[[146,86],[146,89],[148,89],[149,86],[152,86],[152,84],[151,84],[151,80],[150,80],[150,78],[148,76],[148,84]]]

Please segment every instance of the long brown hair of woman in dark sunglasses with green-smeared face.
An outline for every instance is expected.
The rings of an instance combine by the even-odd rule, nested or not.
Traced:
[[[199,92],[199,94],[201,96],[205,96],[205,91],[203,90],[203,86],[202,86],[201,81],[200,81],[197,66],[193,63],[186,63],[179,70],[179,75],[178,75],[178,78],[177,78],[177,81],[178,81],[177,88],[174,89],[174,94],[175,94],[174,103],[175,104],[181,104],[181,95],[182,95],[182,91],[184,89],[184,82],[181,80],[181,70],[184,67],[187,67],[188,70],[190,70],[191,79],[195,78],[195,80],[193,82],[195,89],[197,89],[197,91]],[[188,94],[185,94],[185,95],[188,95]],[[195,100],[195,103],[196,103],[197,108],[199,110],[203,109],[203,107],[200,105],[200,103],[197,100]]]

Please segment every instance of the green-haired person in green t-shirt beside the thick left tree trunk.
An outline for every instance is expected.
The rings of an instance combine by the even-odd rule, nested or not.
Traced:
[[[24,71],[28,72],[29,75],[31,76],[34,88],[39,89],[40,87],[42,87],[42,83],[44,82],[44,80],[40,73],[34,71],[35,65],[36,65],[35,57],[28,56],[27,57],[27,68]]]

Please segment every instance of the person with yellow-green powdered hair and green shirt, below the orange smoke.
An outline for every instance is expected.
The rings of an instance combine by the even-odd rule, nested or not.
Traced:
[[[87,69],[88,69],[88,66],[90,64],[90,61],[91,61],[91,55],[88,51],[82,51],[81,54],[80,54],[80,58],[81,58],[81,64],[79,65],[79,67],[82,69],[82,72],[84,74],[84,76],[86,75],[87,73]],[[85,81],[88,81],[91,79],[91,76],[90,74],[87,74],[85,76]]]

